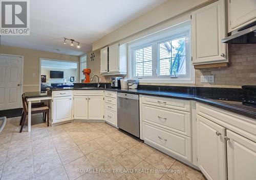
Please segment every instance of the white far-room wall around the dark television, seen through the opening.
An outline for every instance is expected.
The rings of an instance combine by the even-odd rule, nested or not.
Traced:
[[[77,69],[58,69],[58,68],[45,68],[41,67],[41,75],[46,75],[46,82],[63,82],[63,79],[50,79],[50,71],[63,71],[64,79],[67,79],[70,76],[75,77],[75,81],[77,81]]]

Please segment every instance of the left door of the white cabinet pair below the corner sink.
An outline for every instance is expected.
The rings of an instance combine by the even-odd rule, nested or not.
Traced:
[[[74,96],[74,119],[88,119],[87,96]]]

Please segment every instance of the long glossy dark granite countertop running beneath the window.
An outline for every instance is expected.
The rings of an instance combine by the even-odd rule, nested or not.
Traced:
[[[218,100],[218,97],[210,97],[195,95],[195,93],[188,92],[172,92],[165,90],[146,90],[146,89],[112,89],[112,88],[96,88],[96,87],[86,87],[86,88],[56,88],[52,89],[52,91],[59,90],[108,90],[115,92],[123,92],[123,93],[131,93],[131,94],[142,94],[142,95],[153,95],[160,97],[169,97],[169,98],[179,98],[179,99],[188,99],[188,100],[196,100],[198,102],[202,102],[207,105],[211,105],[217,108],[221,108],[223,110],[227,110],[233,113],[237,113],[243,116],[247,116],[256,120],[256,108],[251,106],[246,106],[242,104],[242,99],[237,98],[236,100]]]

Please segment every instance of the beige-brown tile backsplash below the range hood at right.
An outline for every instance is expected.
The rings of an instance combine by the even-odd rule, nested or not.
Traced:
[[[241,87],[256,85],[256,44],[228,44],[229,67],[196,70],[196,86]],[[214,75],[215,83],[201,83],[201,75]]]

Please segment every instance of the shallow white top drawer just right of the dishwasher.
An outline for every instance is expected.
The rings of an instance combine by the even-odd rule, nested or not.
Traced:
[[[190,112],[190,100],[166,97],[142,96],[142,103]]]

